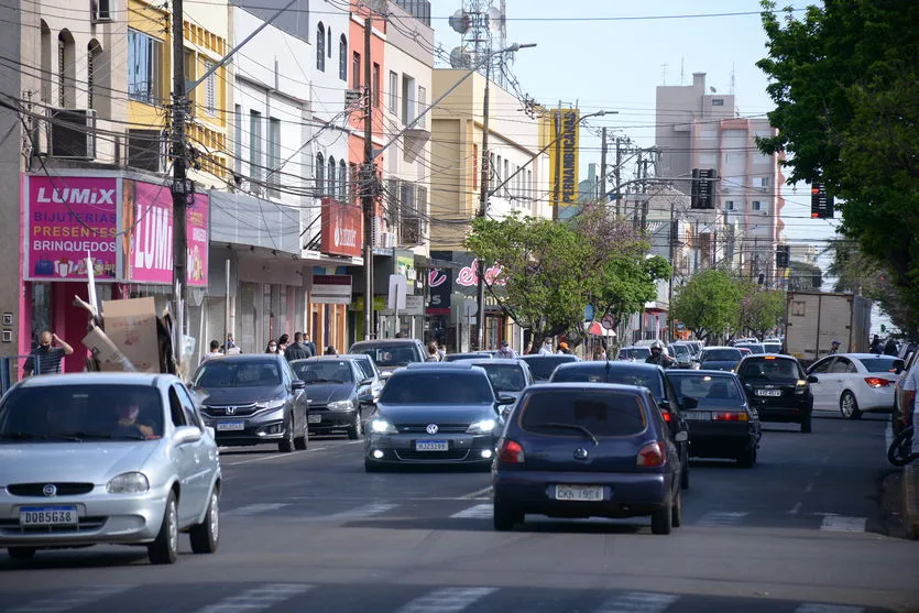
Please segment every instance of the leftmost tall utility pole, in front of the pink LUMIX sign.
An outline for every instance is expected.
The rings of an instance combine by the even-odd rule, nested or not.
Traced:
[[[188,100],[185,94],[185,33],[183,0],[173,1],[173,292],[175,292],[176,333],[174,355],[182,365],[185,340],[185,307],[188,304],[188,237],[185,209],[190,193],[185,165],[185,111]],[[228,297],[229,299],[229,297]]]

